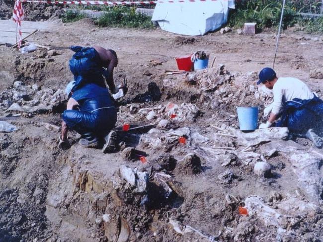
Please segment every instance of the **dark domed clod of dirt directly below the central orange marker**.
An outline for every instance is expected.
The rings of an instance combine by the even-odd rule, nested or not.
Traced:
[[[189,153],[177,163],[175,168],[179,174],[194,175],[202,171],[201,159],[194,153]]]

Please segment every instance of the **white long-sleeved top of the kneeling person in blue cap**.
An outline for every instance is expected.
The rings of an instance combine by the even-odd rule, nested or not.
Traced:
[[[314,94],[310,88],[301,80],[292,77],[281,77],[273,87],[274,102],[271,112],[279,114],[287,101],[299,98],[302,100],[311,99]]]

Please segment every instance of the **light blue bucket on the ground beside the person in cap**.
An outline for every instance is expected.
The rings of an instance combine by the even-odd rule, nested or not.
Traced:
[[[239,127],[242,131],[255,130],[258,124],[258,107],[237,107]]]

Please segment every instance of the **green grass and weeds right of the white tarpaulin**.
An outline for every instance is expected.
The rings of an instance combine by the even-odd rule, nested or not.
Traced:
[[[242,0],[236,2],[231,12],[229,25],[242,27],[245,22],[257,22],[259,28],[278,26],[282,0]],[[287,0],[283,17],[283,28],[298,24],[308,32],[323,33],[323,17],[304,18],[300,12],[320,13],[321,0]]]

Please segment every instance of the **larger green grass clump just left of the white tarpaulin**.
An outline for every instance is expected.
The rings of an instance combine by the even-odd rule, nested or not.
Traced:
[[[96,20],[102,27],[153,28],[151,17],[137,13],[135,7],[108,7]]]

